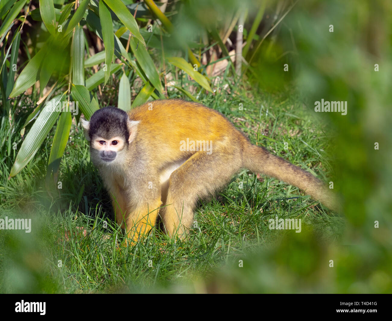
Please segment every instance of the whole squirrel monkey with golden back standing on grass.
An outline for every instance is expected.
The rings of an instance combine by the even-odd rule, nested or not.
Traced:
[[[223,188],[243,168],[338,209],[322,181],[252,145],[222,114],[200,103],[156,100],[129,113],[104,107],[89,122],[82,119],[82,126],[116,221],[135,241],[155,225],[158,212],[169,236],[185,237],[196,201]]]

